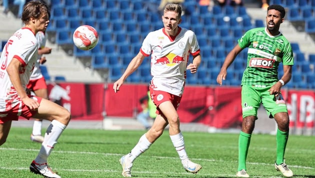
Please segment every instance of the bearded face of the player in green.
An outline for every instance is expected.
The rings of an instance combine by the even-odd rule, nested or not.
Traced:
[[[280,12],[275,9],[270,9],[267,12],[266,24],[267,29],[271,34],[278,33],[280,24],[283,22],[283,18],[280,16]]]

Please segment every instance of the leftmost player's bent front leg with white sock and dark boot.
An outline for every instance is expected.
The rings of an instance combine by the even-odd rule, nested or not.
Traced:
[[[50,155],[55,143],[57,142],[62,131],[70,120],[70,113],[64,107],[42,98],[37,113],[32,115],[34,118],[43,118],[51,121],[49,124],[44,140],[41,144],[38,155],[30,164],[30,170],[34,173],[48,177],[59,177],[53,173],[47,164],[47,158]],[[50,170],[50,171],[47,171]]]

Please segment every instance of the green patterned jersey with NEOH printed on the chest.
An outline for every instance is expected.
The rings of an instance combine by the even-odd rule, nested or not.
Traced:
[[[278,66],[293,65],[290,43],[279,33],[272,36],[265,27],[253,28],[238,39],[241,48],[248,47],[247,67],[241,85],[272,85],[278,81]]]

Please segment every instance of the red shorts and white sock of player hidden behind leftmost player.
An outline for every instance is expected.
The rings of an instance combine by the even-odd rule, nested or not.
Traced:
[[[43,78],[42,78],[42,80],[43,80],[42,82],[40,82],[39,80],[40,79],[38,79],[36,81],[34,87],[39,87],[42,84],[43,84],[43,86],[38,88],[38,89],[35,89],[34,93],[35,93],[36,96],[48,99],[47,85],[46,85],[46,83],[45,83]],[[40,83],[42,83],[42,84],[40,84]],[[30,140],[42,143],[43,136],[41,135],[41,126],[42,126],[42,119],[34,118],[33,129],[32,129],[32,133],[30,135]]]

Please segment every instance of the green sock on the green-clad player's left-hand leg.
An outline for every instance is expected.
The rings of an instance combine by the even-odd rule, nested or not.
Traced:
[[[238,168],[237,171],[241,169],[246,170],[246,157],[248,152],[248,147],[250,143],[251,134],[244,133],[240,131],[238,137]]]

